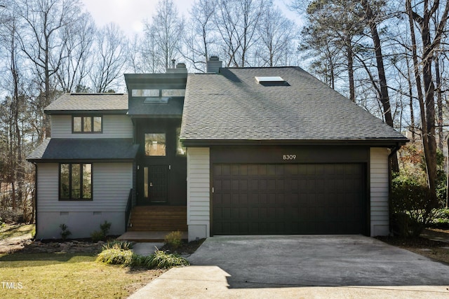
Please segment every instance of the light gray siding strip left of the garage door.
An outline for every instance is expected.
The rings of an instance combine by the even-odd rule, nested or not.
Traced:
[[[210,237],[209,148],[187,148],[187,225],[189,241]]]

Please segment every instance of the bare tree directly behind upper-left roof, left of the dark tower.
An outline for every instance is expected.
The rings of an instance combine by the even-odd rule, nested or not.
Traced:
[[[93,68],[89,73],[93,90],[107,92],[116,88],[116,81],[123,75],[128,55],[128,40],[119,27],[110,23],[95,34]]]

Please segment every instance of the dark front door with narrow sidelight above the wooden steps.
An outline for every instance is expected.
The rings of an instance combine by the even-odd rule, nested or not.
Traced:
[[[143,167],[143,202],[166,204],[168,200],[168,165]]]

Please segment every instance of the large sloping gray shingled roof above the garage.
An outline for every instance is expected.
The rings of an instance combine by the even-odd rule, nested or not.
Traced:
[[[263,84],[255,78],[274,76],[286,82]],[[300,67],[189,74],[180,138],[187,146],[217,141],[408,141]]]

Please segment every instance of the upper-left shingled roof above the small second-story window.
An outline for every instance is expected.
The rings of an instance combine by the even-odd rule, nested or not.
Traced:
[[[47,114],[62,113],[126,113],[128,95],[121,93],[66,93],[48,105]]]

